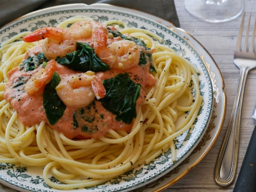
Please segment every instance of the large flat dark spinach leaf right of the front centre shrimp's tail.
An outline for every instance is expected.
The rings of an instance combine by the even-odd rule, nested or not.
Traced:
[[[117,121],[122,120],[126,124],[131,124],[133,118],[137,116],[136,100],[139,97],[141,85],[135,84],[128,73],[106,79],[103,85],[106,96],[99,100],[103,107],[116,114]]]

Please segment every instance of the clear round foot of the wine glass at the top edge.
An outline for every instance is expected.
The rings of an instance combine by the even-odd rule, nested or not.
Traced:
[[[225,22],[243,12],[243,0],[185,0],[185,7],[192,15],[207,22]]]

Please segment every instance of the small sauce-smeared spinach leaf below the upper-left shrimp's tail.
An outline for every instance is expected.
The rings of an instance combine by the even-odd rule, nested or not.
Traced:
[[[20,70],[24,69],[25,72],[27,71],[33,71],[35,68],[37,68],[39,65],[41,65],[44,61],[48,61],[43,54],[43,52],[40,52],[39,54],[28,57],[27,59],[22,61],[22,64],[20,64]]]

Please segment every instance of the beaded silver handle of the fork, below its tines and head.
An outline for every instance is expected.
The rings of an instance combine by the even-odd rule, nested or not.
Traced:
[[[236,177],[241,111],[248,72],[249,68],[240,68],[239,85],[234,107],[215,166],[215,181],[221,186],[230,185]]]

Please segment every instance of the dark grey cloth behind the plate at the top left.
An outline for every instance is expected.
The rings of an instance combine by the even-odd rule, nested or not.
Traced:
[[[106,3],[137,9],[168,20],[176,27],[180,26],[174,0],[0,0],[0,28],[26,13],[72,3]]]

